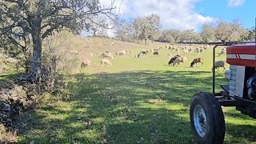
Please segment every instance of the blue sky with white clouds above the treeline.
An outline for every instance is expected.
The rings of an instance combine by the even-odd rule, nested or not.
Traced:
[[[111,0],[100,0],[110,6]],[[204,23],[221,19],[238,20],[245,28],[255,25],[256,0],[114,0],[116,13],[131,21],[134,18],[158,14],[162,29],[200,31]],[[109,33],[111,33],[109,31]]]

